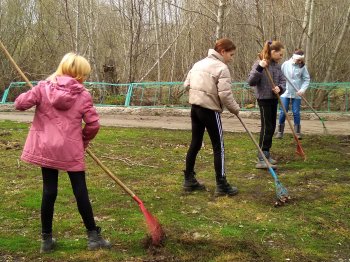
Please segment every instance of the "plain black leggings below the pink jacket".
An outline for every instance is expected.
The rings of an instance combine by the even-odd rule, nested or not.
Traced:
[[[42,233],[51,233],[54,205],[57,197],[58,170],[42,167],[41,172],[43,177],[43,196],[41,202]],[[96,224],[86,187],[85,172],[68,171],[67,173],[84,225],[87,230],[94,230],[96,229]]]

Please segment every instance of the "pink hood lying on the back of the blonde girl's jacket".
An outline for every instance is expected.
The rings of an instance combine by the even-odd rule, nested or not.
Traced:
[[[47,97],[58,110],[68,110],[75,103],[78,95],[85,90],[84,86],[70,76],[56,76],[46,89]]]

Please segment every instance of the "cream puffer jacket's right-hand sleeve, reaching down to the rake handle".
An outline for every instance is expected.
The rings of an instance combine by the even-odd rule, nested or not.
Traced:
[[[232,114],[238,115],[240,107],[232,94],[232,83],[230,71],[225,68],[218,79],[218,95],[223,104]]]

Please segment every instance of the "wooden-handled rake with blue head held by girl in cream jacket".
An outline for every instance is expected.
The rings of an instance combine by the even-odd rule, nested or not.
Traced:
[[[238,115],[237,118],[243,125],[245,131],[247,131],[250,139],[253,141],[254,145],[257,147],[260,155],[263,157],[264,162],[266,163],[274,181],[275,181],[275,188],[276,188],[276,196],[277,196],[277,201],[275,202],[275,207],[277,206],[282,206],[284,203],[286,203],[288,200],[290,200],[290,196],[288,195],[288,190],[282,185],[282,183],[279,181],[276,172],[273,170],[271,167],[271,164],[269,160],[265,157],[263,151],[259,147],[258,143],[255,141],[255,138],[253,137],[252,133],[249,131],[247,128],[246,124],[243,122],[242,118]]]

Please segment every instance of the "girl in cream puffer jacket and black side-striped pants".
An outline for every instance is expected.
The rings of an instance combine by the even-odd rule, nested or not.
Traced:
[[[220,39],[215,48],[210,49],[208,57],[194,64],[187,75],[184,85],[189,89],[191,108],[192,141],[186,156],[184,171],[185,191],[203,190],[195,178],[195,161],[203,142],[205,129],[214,151],[214,167],[216,173],[215,195],[233,196],[238,193],[231,187],[225,175],[225,150],[220,113],[226,107],[231,113],[239,114],[239,105],[232,95],[230,71],[227,67],[235,52],[235,45],[229,39]]]

